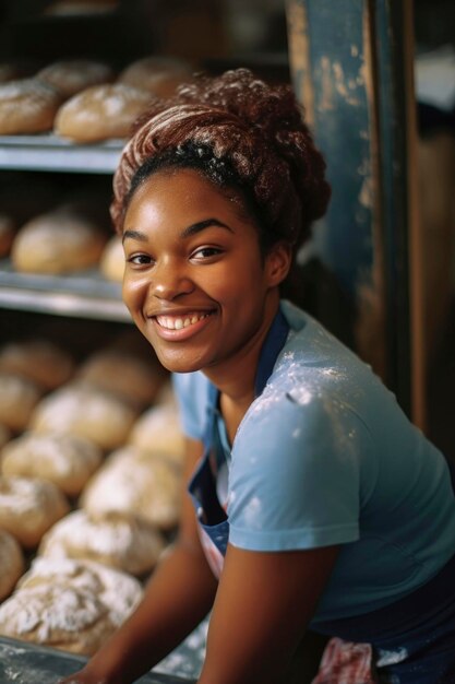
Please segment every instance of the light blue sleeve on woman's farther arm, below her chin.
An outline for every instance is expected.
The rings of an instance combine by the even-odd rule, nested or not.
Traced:
[[[202,373],[172,374],[180,423],[187,437],[202,440],[207,420],[209,381]]]

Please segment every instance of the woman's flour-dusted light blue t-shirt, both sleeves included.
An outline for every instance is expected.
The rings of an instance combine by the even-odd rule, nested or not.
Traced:
[[[444,457],[371,368],[288,302],[290,331],[228,459],[229,542],[255,551],[342,544],[319,621],[410,593],[455,553]],[[173,377],[185,434],[202,439],[209,382]]]

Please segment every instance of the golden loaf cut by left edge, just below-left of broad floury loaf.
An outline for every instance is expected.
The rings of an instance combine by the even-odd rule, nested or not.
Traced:
[[[1,451],[4,475],[43,477],[68,496],[77,496],[103,459],[93,441],[77,435],[27,432]]]

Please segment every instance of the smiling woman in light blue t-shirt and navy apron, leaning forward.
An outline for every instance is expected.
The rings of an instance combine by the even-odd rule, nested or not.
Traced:
[[[211,609],[199,684],[311,681],[308,628],[337,637],[320,682],[337,682],[340,638],[371,645],[356,652],[381,682],[455,677],[444,457],[280,295],[326,209],[324,170],[292,91],[244,69],[156,101],[127,144],[123,298],[173,374],[188,493],[143,602],[67,684],[133,682]]]

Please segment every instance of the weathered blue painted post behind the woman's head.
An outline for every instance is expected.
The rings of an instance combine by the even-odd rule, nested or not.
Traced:
[[[410,405],[403,4],[287,0],[289,62],[333,197],[312,248],[357,308],[358,353]]]

